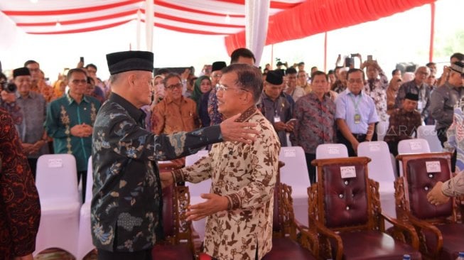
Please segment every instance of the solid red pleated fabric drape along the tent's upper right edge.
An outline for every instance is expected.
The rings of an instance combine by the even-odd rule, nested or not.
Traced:
[[[308,0],[269,17],[266,44],[375,21],[436,0]],[[245,32],[225,37],[227,52],[245,46]]]

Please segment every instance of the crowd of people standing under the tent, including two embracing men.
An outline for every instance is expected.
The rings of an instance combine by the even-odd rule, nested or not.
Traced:
[[[423,124],[434,124],[444,148],[458,159],[453,161],[456,171],[463,170],[464,55],[451,55],[440,77],[435,63],[419,65],[414,72],[395,69],[389,77],[379,60],[353,57],[360,67],[348,60],[340,64],[339,58],[328,72],[317,67],[306,72],[303,62],[259,70],[254,54],[239,48],[229,65],[215,61],[198,77],[190,69],[180,75],[158,70],[153,77],[153,53],[128,51],[107,55],[107,81],[97,77],[96,65],[81,61],[53,86],[45,83],[39,63],[28,60],[13,70],[11,79],[0,75],[0,117],[5,118],[0,143],[13,143],[11,151],[2,144],[0,177],[3,182],[18,174],[24,189],[2,188],[2,194],[27,195],[35,209],[28,211],[35,216],[27,227],[32,239],[40,219],[33,186],[38,157],[71,153],[77,179],[86,183],[92,156],[94,175],[88,178],[94,180],[92,236],[99,259],[150,259],[153,244],[162,237],[161,187],[211,178],[206,202],[188,212],[190,220],[208,217],[205,252],[216,259],[261,259],[271,248],[268,223],[281,146],[303,148],[306,166],[301,167],[308,168],[315,183],[311,161],[322,143],[343,143],[356,156],[361,142],[377,141],[376,126],[385,121],[384,141],[397,155],[399,141],[414,138]],[[158,173],[156,161],[182,166],[185,156],[205,146],[209,156],[194,166]],[[10,164],[14,154],[20,155],[18,173]],[[429,195],[431,203],[463,194],[463,178],[458,173],[438,183]],[[0,215],[12,218],[9,210],[16,204],[6,205]],[[234,229],[240,232],[226,229],[232,224],[228,220],[243,216],[241,212],[249,217]],[[10,222],[3,219],[0,229],[7,230]],[[217,244],[231,236],[254,242]],[[5,250],[26,257],[33,251],[31,241],[8,243],[0,244],[0,254]],[[17,249],[17,243],[27,247]]]

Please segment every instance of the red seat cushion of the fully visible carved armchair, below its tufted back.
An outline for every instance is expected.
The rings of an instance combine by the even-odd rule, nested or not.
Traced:
[[[343,259],[402,259],[409,254],[411,259],[421,259],[421,253],[409,244],[395,241],[388,234],[378,231],[340,232],[343,243]]]

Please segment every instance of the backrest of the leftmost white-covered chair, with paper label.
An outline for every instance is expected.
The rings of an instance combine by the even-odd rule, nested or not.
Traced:
[[[71,154],[45,154],[37,161],[36,186],[43,201],[78,202],[77,166]]]

